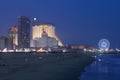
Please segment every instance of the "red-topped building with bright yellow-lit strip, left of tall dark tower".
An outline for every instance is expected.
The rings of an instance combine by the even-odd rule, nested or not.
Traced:
[[[12,39],[12,48],[16,48],[18,46],[18,27],[13,26],[8,29],[8,39]]]

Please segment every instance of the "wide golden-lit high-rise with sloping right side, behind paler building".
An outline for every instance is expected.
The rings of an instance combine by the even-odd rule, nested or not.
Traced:
[[[35,25],[32,27],[32,39],[41,38],[43,29],[46,31],[49,37],[55,38],[58,41],[59,46],[63,46],[61,40],[55,34],[55,27],[53,24],[43,23],[39,25]]]

